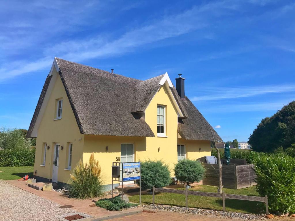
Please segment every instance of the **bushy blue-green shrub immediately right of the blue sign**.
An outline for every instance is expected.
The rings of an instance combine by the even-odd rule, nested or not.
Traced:
[[[157,188],[171,184],[170,171],[168,165],[161,160],[141,162],[141,187],[152,189],[153,185]],[[139,181],[137,181],[139,184]]]

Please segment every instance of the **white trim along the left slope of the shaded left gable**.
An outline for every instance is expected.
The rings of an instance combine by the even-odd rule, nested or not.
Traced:
[[[41,105],[41,108],[39,110],[39,113],[38,113],[38,116],[37,116],[37,119],[36,119],[36,122],[35,122],[35,125],[33,127],[33,130],[32,130],[32,133],[31,133],[31,137],[37,137],[38,136],[38,129],[39,129],[39,126],[40,126],[40,123],[41,123],[41,120],[42,120],[42,117],[43,117],[43,114],[45,112],[45,109],[47,107],[47,103],[49,101],[49,98],[50,98],[50,95],[51,95],[51,92],[53,90],[53,87],[55,85],[55,81],[56,81],[56,78],[58,77],[58,74],[54,74],[53,75],[53,71],[56,70],[56,72],[59,72],[59,67],[58,67],[58,63],[57,63],[57,60],[56,58],[54,58],[54,61],[53,61],[53,64],[52,64],[52,67],[51,67],[51,70],[49,72],[49,75],[48,76],[51,76],[51,80],[50,80],[50,83],[48,85],[48,88],[46,90],[46,94],[44,96],[44,99],[43,99],[43,102],[42,102],[42,105]]]

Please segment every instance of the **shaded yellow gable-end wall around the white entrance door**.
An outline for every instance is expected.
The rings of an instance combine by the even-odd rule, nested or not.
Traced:
[[[34,170],[37,170],[37,176],[52,179],[54,143],[60,143],[64,149],[59,149],[58,181],[67,183],[71,174],[71,171],[65,170],[68,164],[68,142],[73,142],[72,168],[74,168],[83,157],[84,135],[79,131],[63,83],[56,71],[53,72],[51,83],[54,83],[54,87],[38,128]],[[63,98],[62,118],[54,120],[55,103],[58,98]],[[47,143],[50,149],[46,152],[45,166],[40,166],[43,161],[43,143]]]

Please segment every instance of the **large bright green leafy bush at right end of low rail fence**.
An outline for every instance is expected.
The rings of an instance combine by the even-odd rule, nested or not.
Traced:
[[[270,210],[295,213],[295,159],[285,154],[261,154],[253,161],[257,191],[268,195]]]

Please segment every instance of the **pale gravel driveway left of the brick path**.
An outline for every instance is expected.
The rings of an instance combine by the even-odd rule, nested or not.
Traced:
[[[0,180],[0,220],[61,221],[62,215],[78,213],[76,210],[59,207],[60,204]]]

